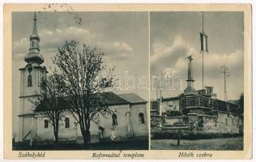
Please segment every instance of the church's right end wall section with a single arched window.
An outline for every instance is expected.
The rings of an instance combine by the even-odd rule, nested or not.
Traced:
[[[139,113],[143,113],[144,122],[139,122]],[[135,136],[147,136],[147,107],[146,104],[131,104],[130,122]]]

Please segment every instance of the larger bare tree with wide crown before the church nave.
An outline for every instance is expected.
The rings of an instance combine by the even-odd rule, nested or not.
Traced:
[[[76,40],[66,41],[58,48],[53,62],[65,80],[66,93],[72,103],[70,113],[79,123],[83,143],[91,140],[90,122],[99,114],[110,113],[105,104],[106,88],[113,87],[113,70],[103,62],[104,53]]]

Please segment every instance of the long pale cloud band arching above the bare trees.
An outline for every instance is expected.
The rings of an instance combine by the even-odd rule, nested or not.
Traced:
[[[87,28],[70,26],[68,28],[56,28],[55,30],[43,29],[39,32],[41,38],[40,48],[42,52],[53,54],[57,48],[64,45],[66,40],[79,40],[92,47],[99,48],[105,53],[105,57],[111,60],[128,59],[134,49],[123,40],[106,40],[104,36],[90,32]],[[13,45],[13,53],[28,53],[29,40],[21,38]],[[44,53],[42,53],[44,55]]]

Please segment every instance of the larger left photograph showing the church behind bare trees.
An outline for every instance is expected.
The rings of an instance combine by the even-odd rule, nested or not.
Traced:
[[[147,12],[12,12],[12,150],[148,150],[148,33]]]

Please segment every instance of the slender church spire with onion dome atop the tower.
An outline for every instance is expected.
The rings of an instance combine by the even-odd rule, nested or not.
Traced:
[[[40,41],[40,37],[37,34],[37,29],[36,29],[36,13],[35,13],[35,15],[34,15],[33,32],[32,32],[32,35],[30,36],[29,53],[26,54],[25,62],[37,63],[38,65],[40,65],[41,63],[44,62],[44,58],[41,55],[40,49],[39,49],[39,41]]]

